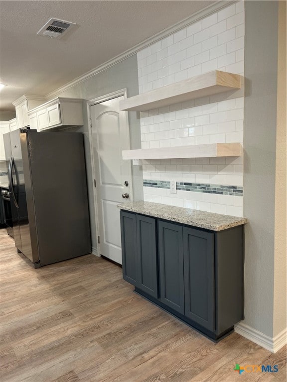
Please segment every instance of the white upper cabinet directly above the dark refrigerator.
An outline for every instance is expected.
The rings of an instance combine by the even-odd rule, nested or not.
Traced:
[[[29,110],[30,128],[44,131],[83,125],[83,100],[57,97]]]

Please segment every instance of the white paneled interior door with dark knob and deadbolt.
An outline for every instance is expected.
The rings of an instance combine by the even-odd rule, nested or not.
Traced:
[[[90,106],[100,254],[119,264],[122,250],[117,204],[133,199],[131,161],[122,159],[122,150],[130,149],[130,136],[126,112],[119,107],[121,99],[123,95]],[[123,198],[126,193],[129,197]]]

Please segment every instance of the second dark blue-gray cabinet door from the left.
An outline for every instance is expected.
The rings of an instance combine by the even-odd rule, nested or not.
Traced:
[[[155,219],[137,215],[137,287],[158,297]]]

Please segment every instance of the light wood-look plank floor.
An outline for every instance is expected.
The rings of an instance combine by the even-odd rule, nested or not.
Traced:
[[[286,381],[272,354],[233,333],[214,344],[133,293],[93,255],[33,269],[0,230],[1,382]],[[233,371],[279,365],[278,373]]]

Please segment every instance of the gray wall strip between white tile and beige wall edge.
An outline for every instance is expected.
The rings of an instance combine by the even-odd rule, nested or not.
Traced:
[[[245,323],[273,336],[277,1],[245,2]]]

